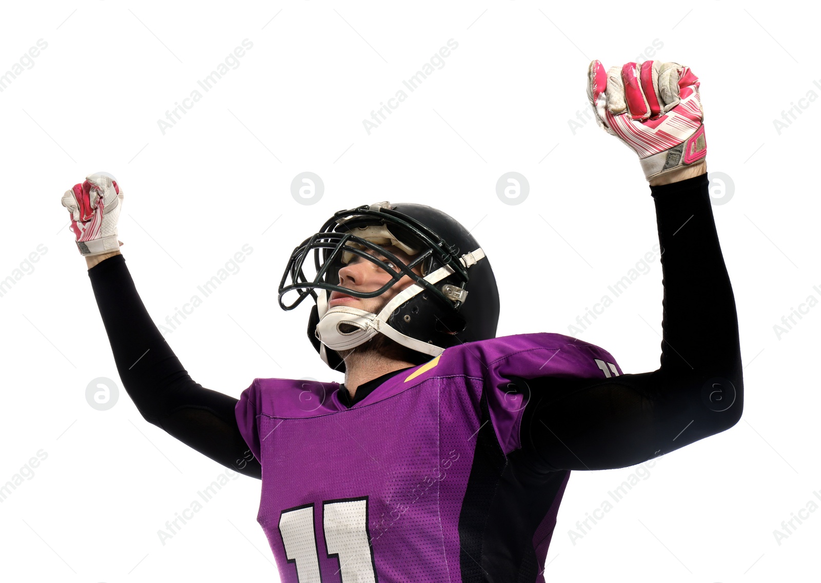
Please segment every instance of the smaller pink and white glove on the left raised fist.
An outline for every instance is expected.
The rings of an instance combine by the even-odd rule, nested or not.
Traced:
[[[103,255],[120,248],[117,218],[122,209],[122,189],[108,172],[95,172],[62,195],[71,216],[80,255]]]

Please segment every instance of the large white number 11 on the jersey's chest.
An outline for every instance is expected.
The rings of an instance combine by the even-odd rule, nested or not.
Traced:
[[[322,504],[325,548],[336,558],[342,583],[377,583],[368,536],[368,498],[330,500]],[[314,533],[314,504],[291,508],[279,516],[279,534],[288,562],[300,583],[321,583],[319,549]]]

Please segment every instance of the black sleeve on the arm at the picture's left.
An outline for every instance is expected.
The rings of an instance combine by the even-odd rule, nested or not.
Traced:
[[[143,418],[223,466],[261,478],[236,424],[238,399],[203,388],[182,368],[145,310],[125,257],[103,259],[88,273],[123,387]]]

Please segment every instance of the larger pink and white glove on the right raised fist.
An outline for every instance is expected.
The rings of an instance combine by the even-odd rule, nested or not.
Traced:
[[[699,78],[677,62],[590,62],[587,97],[596,123],[639,154],[648,181],[707,156]]]

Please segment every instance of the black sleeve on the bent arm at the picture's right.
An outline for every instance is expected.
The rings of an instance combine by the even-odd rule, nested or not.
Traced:
[[[662,251],[661,367],[611,379],[518,379],[531,395],[522,448],[544,470],[632,466],[741,418],[736,304],[707,174],[650,189]]]

